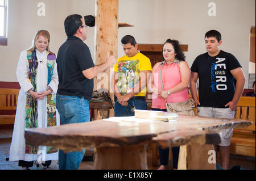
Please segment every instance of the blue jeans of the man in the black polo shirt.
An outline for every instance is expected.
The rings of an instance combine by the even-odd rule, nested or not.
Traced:
[[[56,108],[60,113],[60,125],[90,121],[89,101],[78,96],[56,96]],[[64,153],[59,150],[59,169],[78,170],[85,150]]]

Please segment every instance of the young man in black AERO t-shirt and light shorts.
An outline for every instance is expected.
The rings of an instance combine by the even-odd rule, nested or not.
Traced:
[[[198,116],[234,118],[234,110],[242,95],[245,76],[237,58],[231,53],[220,50],[221,34],[216,30],[205,34],[207,53],[196,57],[191,66],[190,90],[198,108]],[[199,100],[196,82],[199,79]],[[236,79],[236,85],[234,81]],[[214,145],[220,150],[224,169],[229,165],[230,138],[233,129],[221,131],[221,142]]]

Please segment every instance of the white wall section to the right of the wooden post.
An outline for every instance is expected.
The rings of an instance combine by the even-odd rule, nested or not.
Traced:
[[[208,16],[209,2],[216,3],[216,16]],[[221,49],[237,57],[248,78],[250,28],[255,26],[254,0],[122,0],[119,22],[134,25],[119,28],[119,45],[127,34],[141,44],[163,44],[168,38],[176,39],[188,44],[185,56],[189,66],[196,56],[206,52],[205,33],[218,30],[223,41]],[[118,56],[122,55],[119,46]]]

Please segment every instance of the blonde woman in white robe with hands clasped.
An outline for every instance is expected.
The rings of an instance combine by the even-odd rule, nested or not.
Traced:
[[[21,87],[18,96],[16,116],[14,123],[13,138],[10,147],[10,161],[19,161],[19,166],[23,169],[28,169],[33,165],[33,161],[41,161],[44,169],[48,169],[52,160],[59,159],[58,151],[49,153],[46,146],[39,146],[36,149],[36,154],[27,154],[26,141],[24,138],[24,130],[26,129],[26,106],[27,99],[37,100],[37,126],[43,128],[49,126],[47,122],[47,95],[51,95],[54,101],[58,86],[57,64],[55,62],[56,56],[49,51],[49,32],[46,30],[38,31],[35,35],[34,43],[29,50],[23,50],[20,53],[18,66],[16,69],[16,76]],[[36,91],[28,76],[30,65],[28,63],[28,51],[33,51],[36,54],[36,61],[38,62],[36,68]],[[49,56],[48,56],[49,55]],[[48,58],[51,57],[51,58]],[[51,60],[48,60],[51,59]],[[48,62],[53,64],[51,70],[51,79],[48,78]],[[48,83],[49,82],[49,83]],[[30,96],[27,96],[30,95]],[[49,104],[48,104],[49,105]],[[53,107],[53,111],[56,107]],[[52,108],[51,108],[52,110]],[[59,113],[56,110],[56,121],[54,125],[60,125]]]

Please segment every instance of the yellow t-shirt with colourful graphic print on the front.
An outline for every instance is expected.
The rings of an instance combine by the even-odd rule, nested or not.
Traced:
[[[142,70],[152,71],[150,59],[142,53],[137,53],[133,57],[126,55],[118,58],[117,64],[114,65],[114,71],[118,72],[118,88],[122,95],[126,95],[133,91],[133,88],[139,82],[139,73]],[[145,96],[147,88],[138,92],[135,96]]]

